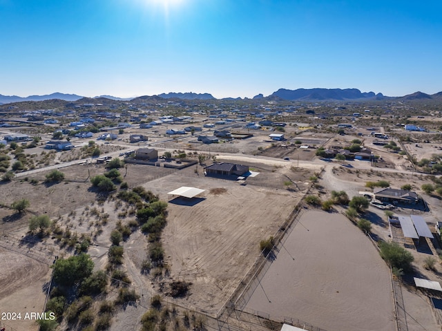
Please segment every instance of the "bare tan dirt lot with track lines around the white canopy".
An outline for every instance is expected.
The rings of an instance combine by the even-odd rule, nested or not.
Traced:
[[[168,198],[168,191],[181,186],[206,191],[190,202]],[[253,265],[260,240],[278,231],[300,198],[287,190],[177,174],[144,187],[169,202],[162,237],[171,278],[193,283],[185,303],[211,314]]]

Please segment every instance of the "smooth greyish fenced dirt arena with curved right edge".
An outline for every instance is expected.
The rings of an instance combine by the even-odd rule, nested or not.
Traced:
[[[294,259],[293,259],[294,258]],[[390,270],[340,214],[307,211],[247,308],[325,330],[395,330]]]

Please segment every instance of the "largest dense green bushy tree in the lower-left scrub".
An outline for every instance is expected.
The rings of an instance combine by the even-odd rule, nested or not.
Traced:
[[[74,285],[92,274],[94,263],[88,254],[81,253],[70,258],[59,258],[52,267],[53,278],[57,283]]]

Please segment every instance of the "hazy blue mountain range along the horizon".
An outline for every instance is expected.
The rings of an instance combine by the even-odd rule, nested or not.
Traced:
[[[66,100],[69,102],[75,102],[82,99],[81,95],[65,94],[65,93],[52,93],[49,95],[30,95],[28,97],[19,97],[17,95],[1,95],[0,104],[8,104],[12,102],[24,102],[24,101],[42,101],[42,100]],[[95,98],[88,98],[88,100],[151,100],[157,98],[158,100],[164,99],[182,99],[182,100],[216,100],[210,93],[162,93],[160,95],[142,96],[136,98],[121,98],[113,97],[112,95],[100,95]],[[233,98],[225,98],[226,100],[233,100]],[[240,98],[237,98],[240,99]],[[374,92],[361,92],[357,88],[298,88],[297,90],[288,90],[286,88],[280,88],[278,91],[273,92],[271,95],[265,97],[262,94],[258,94],[253,99],[262,100],[299,100],[299,101],[364,101],[364,100],[442,100],[442,91],[429,95],[422,92],[412,93],[410,95],[404,95],[403,97],[387,97],[382,93],[375,94]]]

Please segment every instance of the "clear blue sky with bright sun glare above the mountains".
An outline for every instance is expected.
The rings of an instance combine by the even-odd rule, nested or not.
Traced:
[[[0,0],[0,94],[433,94],[441,13],[439,0]]]

